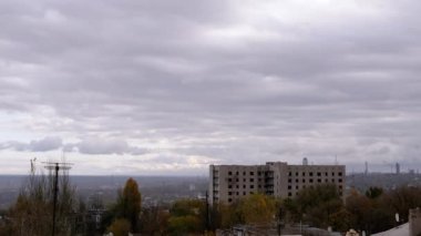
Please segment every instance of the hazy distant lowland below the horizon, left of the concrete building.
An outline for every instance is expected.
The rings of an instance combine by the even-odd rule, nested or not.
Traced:
[[[99,196],[104,204],[117,197],[117,189],[124,186],[130,176],[71,176],[71,183],[83,199]],[[175,199],[204,197],[207,178],[195,176],[132,176],[140,184],[142,204],[168,205]],[[0,175],[0,209],[14,203],[27,175]]]

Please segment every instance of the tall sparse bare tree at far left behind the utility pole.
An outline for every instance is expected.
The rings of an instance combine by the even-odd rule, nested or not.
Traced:
[[[54,173],[37,170],[31,160],[31,171],[20,189],[16,204],[10,208],[14,235],[51,235],[54,195]],[[74,187],[68,171],[60,172],[57,198],[57,235],[71,235],[73,213],[76,206]]]

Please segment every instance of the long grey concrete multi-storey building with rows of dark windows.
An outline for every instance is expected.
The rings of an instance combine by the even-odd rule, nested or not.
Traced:
[[[233,203],[244,196],[264,193],[276,197],[294,197],[302,188],[335,184],[343,195],[345,165],[288,165],[267,162],[265,165],[210,165],[209,201]]]

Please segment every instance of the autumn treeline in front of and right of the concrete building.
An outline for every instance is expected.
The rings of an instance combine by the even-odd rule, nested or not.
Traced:
[[[216,227],[236,224],[274,227],[279,223],[285,227],[301,223],[337,232],[353,228],[370,235],[408,222],[409,209],[420,206],[420,187],[402,186],[388,192],[370,187],[366,193],[351,189],[342,198],[335,185],[318,185],[300,191],[294,198],[256,194],[229,206],[219,205]],[[397,213],[399,222],[396,222]]]

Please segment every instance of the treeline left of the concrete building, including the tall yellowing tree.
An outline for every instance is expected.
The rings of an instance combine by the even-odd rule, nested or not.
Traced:
[[[0,235],[45,236],[53,230],[54,173],[31,171],[16,203],[1,212]],[[60,172],[55,204],[55,235],[203,235],[206,204],[182,199],[165,206],[142,207],[137,183],[129,178],[115,203],[105,206],[101,197],[78,198],[68,173]],[[100,219],[100,220],[99,220]]]

